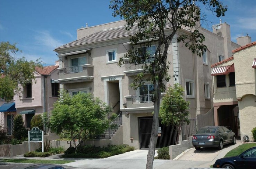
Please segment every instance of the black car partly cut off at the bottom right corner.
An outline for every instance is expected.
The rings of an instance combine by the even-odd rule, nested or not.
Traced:
[[[235,157],[216,160],[215,168],[256,169],[256,147],[250,148]]]

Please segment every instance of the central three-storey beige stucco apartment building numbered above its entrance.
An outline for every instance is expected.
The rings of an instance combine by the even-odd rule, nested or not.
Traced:
[[[142,70],[127,61],[125,66],[117,66],[127,49],[140,47],[129,43],[129,35],[137,29],[126,31],[124,25],[125,21],[121,20],[77,29],[77,40],[54,50],[59,55],[58,80],[60,89],[67,90],[71,95],[79,91],[90,92],[114,107],[114,113],[122,112],[122,131],[118,131],[122,132],[122,142],[144,149],[150,137],[153,112],[151,94],[154,89],[148,82],[138,90],[131,89],[129,84]],[[191,119],[213,108],[211,65],[227,59],[232,55],[232,50],[240,47],[230,40],[230,26],[227,23],[219,26],[221,29],[213,29],[213,32],[200,28],[206,38],[204,44],[208,46],[202,57],[192,54],[184,44],[177,43],[176,38],[181,33],[188,33],[185,28],[178,30],[169,46],[167,62],[172,63],[169,74],[176,72],[178,77],[177,80],[173,78],[166,82],[166,86],[180,83],[185,88],[185,98],[190,101]],[[154,54],[157,45],[155,42],[144,50]],[[163,133],[162,128],[159,139],[164,139]]]

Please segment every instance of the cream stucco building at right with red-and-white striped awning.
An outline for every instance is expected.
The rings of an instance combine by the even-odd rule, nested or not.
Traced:
[[[241,135],[253,137],[256,127],[256,42],[249,36],[238,38],[247,43],[236,50],[233,56],[212,65],[214,84],[215,125],[230,127]]]

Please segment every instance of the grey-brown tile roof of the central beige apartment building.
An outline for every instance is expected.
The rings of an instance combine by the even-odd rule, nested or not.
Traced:
[[[165,29],[170,28],[171,24],[166,24]],[[86,37],[83,37],[81,39],[77,39],[76,41],[70,42],[68,44],[62,45],[55,50],[66,48],[66,47],[72,47],[72,46],[78,46],[78,45],[84,45],[94,42],[100,42],[100,41],[106,41],[110,39],[116,39],[121,37],[127,37],[130,35],[135,35],[136,32],[139,31],[139,28],[137,25],[134,25],[131,30],[126,30],[124,26],[117,27],[117,28],[110,28],[101,30],[100,32],[96,32],[94,34],[88,35]]]

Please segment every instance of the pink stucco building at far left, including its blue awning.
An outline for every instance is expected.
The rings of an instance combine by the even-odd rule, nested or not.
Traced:
[[[23,88],[22,98],[14,96],[14,100],[6,103],[0,101],[0,125],[7,129],[7,134],[12,135],[14,117],[22,114],[25,127],[30,127],[30,121],[35,114],[51,112],[53,103],[58,100],[59,74],[58,61],[56,65],[36,68],[35,82],[28,83]]]

